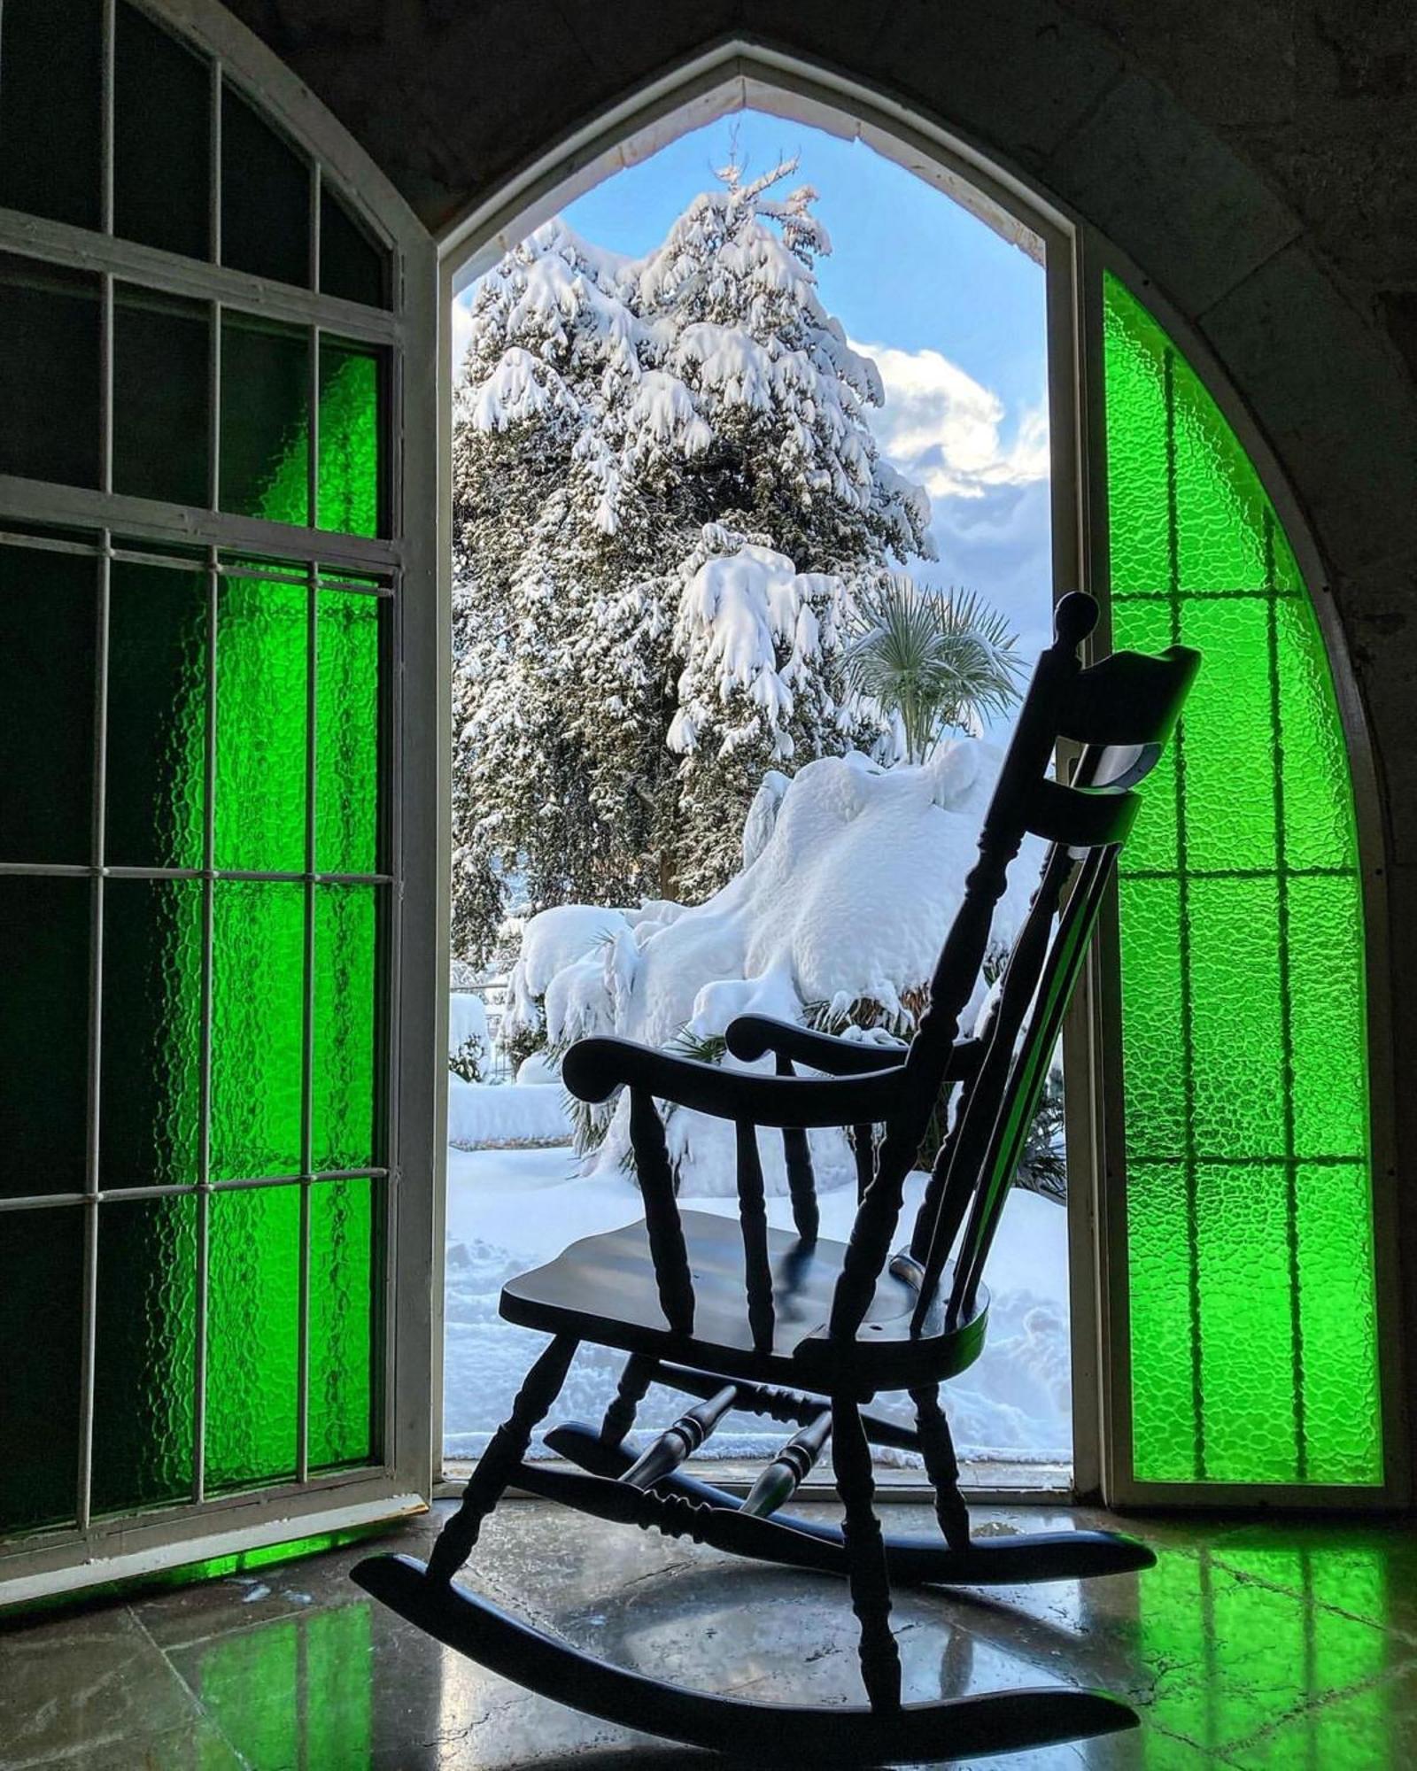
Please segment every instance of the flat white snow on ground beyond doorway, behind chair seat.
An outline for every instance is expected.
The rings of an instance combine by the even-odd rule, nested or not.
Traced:
[[[553,1089],[505,1087],[489,1093],[558,1096]],[[923,1174],[910,1176],[903,1222],[919,1203]],[[737,1215],[733,1197],[684,1197],[694,1211]],[[852,1187],[822,1192],[822,1234],[845,1240],[856,1210]],[[769,1222],[792,1227],[790,1203],[769,1199]],[[569,1146],[560,1149],[448,1151],[448,1279],[445,1330],[443,1449],[448,1458],[478,1456],[512,1406],[544,1335],[498,1316],[498,1293],[515,1273],[549,1261],[583,1236],[641,1217],[639,1190],[625,1174],[577,1174]],[[1068,1461],[1068,1259],[1065,1211],[1015,1188],[990,1259],[988,1339],[980,1360],[946,1385],[944,1401],[962,1458]],[[551,1420],[597,1424],[615,1394],[623,1355],[583,1348]],[[643,1440],[670,1426],[685,1397],[652,1388],[641,1411]],[[880,1408],[909,1411],[905,1397]],[[774,1450],[786,1431],[776,1422],[733,1415],[707,1450],[751,1458]],[[533,1443],[537,1456],[537,1443]],[[900,1461],[909,1463],[909,1458]]]

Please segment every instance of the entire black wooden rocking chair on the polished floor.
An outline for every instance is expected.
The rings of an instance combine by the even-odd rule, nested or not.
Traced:
[[[1070,1688],[905,1704],[889,1622],[891,1582],[1075,1580],[1155,1560],[1144,1544],[1111,1532],[971,1539],[939,1399],[941,1383],[971,1365],[983,1346],[985,1259],[1102,896],[1139,808],[1132,786],[1160,756],[1199,666],[1199,653],[1173,646],[1162,657],[1114,653],[1084,669],[1075,652],[1095,622],[1091,597],[1073,593],[1057,606],[1054,643],[1020,708],[980,859],[905,1052],[751,1015],[728,1027],[728,1048],[742,1061],[772,1052],[776,1075],[721,1070],[625,1040],[581,1040],[567,1052],[561,1073],[581,1100],[604,1102],[629,1089],[645,1218],[574,1243],[503,1289],[501,1314],[553,1341],[429,1564],[384,1555],[354,1569],[354,1580],[402,1617],[546,1697],[719,1752],[762,1753],[790,1737],[801,1762],[875,1766],[1008,1752],[1135,1723],[1116,1698]],[[1049,777],[1059,739],[1082,746],[1070,785]],[[1049,843],[1038,889],[983,1025],[960,1038],[1006,870],[1029,832]],[[799,1077],[799,1063],[818,1075]],[[949,1130],[910,1238],[893,1254],[905,1178],[946,1089],[958,1089]],[[680,1211],[655,1100],[733,1121],[739,1224]],[[783,1135],[795,1236],[767,1227],[760,1126]],[[818,1236],[811,1126],[856,1133],[861,1199],[845,1245]],[[618,1394],[599,1433],[569,1424],[547,1435],[546,1443],[579,1472],[526,1463],[531,1433],[581,1341],[629,1355]],[[623,1438],[650,1383],[698,1401],[634,1458]],[[863,1406],[879,1390],[909,1390],[914,1431]],[[680,1470],[732,1410],[794,1427],[742,1502]],[[778,1511],[827,1443],[845,1505],[840,1530]],[[942,1543],[882,1535],[871,1445],[923,1454]],[[508,1484],[600,1520],[845,1574],[861,1626],[868,1704],[760,1704],[670,1686],[592,1659],[453,1585]]]

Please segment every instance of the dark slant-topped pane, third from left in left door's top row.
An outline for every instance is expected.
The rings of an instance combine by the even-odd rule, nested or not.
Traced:
[[[221,262],[310,287],[310,165],[230,87],[221,92]]]

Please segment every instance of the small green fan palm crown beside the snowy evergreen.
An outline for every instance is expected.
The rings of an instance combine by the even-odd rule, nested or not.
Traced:
[[[1008,622],[972,590],[921,590],[886,572],[857,599],[848,685],[900,721],[905,760],[923,763],[946,731],[978,731],[1018,700],[1024,669]]]

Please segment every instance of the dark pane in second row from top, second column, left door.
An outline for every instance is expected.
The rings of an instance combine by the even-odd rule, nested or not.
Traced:
[[[209,333],[200,301],[115,287],[115,492],[211,505]]]

